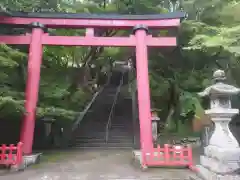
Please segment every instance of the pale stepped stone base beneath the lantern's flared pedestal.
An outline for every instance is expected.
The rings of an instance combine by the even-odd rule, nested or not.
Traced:
[[[197,165],[197,175],[204,180],[240,180],[240,148],[209,145],[204,148],[200,164]]]

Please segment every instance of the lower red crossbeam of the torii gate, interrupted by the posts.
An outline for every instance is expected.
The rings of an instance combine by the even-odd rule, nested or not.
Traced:
[[[31,35],[22,36],[0,36],[0,43],[4,44],[30,44]],[[45,34],[41,43],[43,45],[62,45],[62,46],[127,46],[135,47],[135,36],[130,37],[77,37],[77,36],[49,36]],[[177,45],[175,37],[152,37],[147,36],[145,41],[147,46],[152,47],[171,47]]]

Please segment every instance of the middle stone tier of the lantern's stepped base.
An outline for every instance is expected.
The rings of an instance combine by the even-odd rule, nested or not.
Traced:
[[[238,162],[223,163],[207,156],[200,156],[200,164],[219,174],[230,174],[239,169]]]

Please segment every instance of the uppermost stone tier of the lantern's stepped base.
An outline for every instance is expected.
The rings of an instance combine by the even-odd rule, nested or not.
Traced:
[[[225,163],[240,162],[240,148],[219,148],[209,145],[204,148],[204,155]]]

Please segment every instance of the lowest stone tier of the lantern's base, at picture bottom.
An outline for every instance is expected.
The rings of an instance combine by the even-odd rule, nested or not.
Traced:
[[[201,165],[197,165],[197,169],[198,169],[198,173],[197,173],[198,177],[202,178],[203,180],[240,180],[240,176],[237,174],[221,175],[221,174],[212,172]]]

